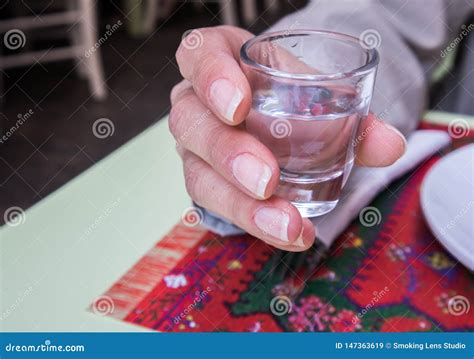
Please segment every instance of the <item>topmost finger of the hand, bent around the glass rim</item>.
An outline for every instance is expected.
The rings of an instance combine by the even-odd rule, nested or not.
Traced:
[[[252,36],[231,26],[193,30],[176,52],[182,76],[193,84],[205,106],[227,124],[241,123],[252,103],[250,85],[239,66],[240,47]]]

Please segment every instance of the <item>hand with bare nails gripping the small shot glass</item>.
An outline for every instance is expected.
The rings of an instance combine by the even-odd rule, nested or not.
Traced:
[[[308,249],[315,239],[311,221],[288,201],[272,197],[279,181],[275,157],[239,128],[252,102],[239,50],[253,35],[230,26],[195,31],[188,36],[196,36],[199,46],[189,46],[185,38],[176,53],[184,80],[171,92],[169,117],[188,193],[268,244]],[[388,166],[405,151],[403,135],[373,114],[362,121],[359,133],[358,164]]]

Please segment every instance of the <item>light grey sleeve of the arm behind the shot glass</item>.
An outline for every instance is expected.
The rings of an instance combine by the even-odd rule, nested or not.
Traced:
[[[462,41],[474,25],[463,21],[474,0],[313,0],[268,31],[318,29],[377,41],[380,63],[371,111],[405,135],[418,127],[426,109],[431,72],[443,51]],[[469,31],[471,31],[469,30]],[[203,224],[221,235],[243,231],[204,210]]]

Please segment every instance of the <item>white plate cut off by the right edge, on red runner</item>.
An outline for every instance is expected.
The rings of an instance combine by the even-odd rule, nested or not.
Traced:
[[[421,186],[421,208],[435,237],[474,270],[474,144],[430,169]]]

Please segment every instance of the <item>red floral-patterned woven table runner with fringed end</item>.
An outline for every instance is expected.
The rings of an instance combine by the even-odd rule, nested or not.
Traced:
[[[377,221],[355,220],[309,277],[278,275],[279,251],[250,235],[220,237],[191,207],[90,310],[175,332],[474,329],[474,276],[433,237],[419,203],[427,171],[474,131],[421,127],[449,130],[453,145],[381,193],[370,204]]]

